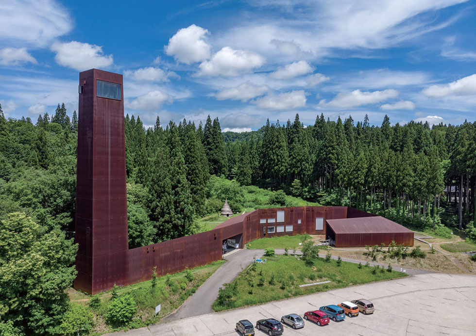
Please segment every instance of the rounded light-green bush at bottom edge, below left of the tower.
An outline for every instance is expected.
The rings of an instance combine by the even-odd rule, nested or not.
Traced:
[[[62,335],[87,335],[93,326],[93,314],[84,306],[69,304],[60,325]]]

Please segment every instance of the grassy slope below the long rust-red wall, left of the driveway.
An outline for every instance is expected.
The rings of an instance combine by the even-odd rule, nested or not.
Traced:
[[[173,310],[184,303],[187,298],[195,293],[210,275],[212,275],[224,260],[215,261],[211,264],[196,267],[189,271],[193,275],[192,280],[186,278],[187,271],[171,274],[167,284],[167,276],[157,278],[155,288],[151,286],[151,280],[140,282],[134,285],[119,287],[118,297],[130,294],[137,305],[137,311],[134,318],[121,328],[114,329],[106,323],[105,316],[107,305],[111,299],[111,291],[103,292],[97,296],[101,300],[98,308],[88,307],[90,299],[93,297],[75,289],[68,291],[70,302],[81,304],[91,310],[93,313],[94,327],[89,335],[102,335],[121,329],[135,329],[152,323],[156,323],[164,316],[169,315]],[[155,306],[161,304],[161,311],[157,317],[154,317]]]

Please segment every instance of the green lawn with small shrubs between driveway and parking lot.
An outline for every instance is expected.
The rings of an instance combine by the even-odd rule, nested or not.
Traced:
[[[337,266],[336,260],[325,262],[323,258],[314,260],[310,266],[306,266],[303,260],[298,260],[295,256],[276,256],[267,259],[265,264],[252,264],[250,268],[242,271],[230,285],[231,297],[228,298],[227,303],[220,304],[220,299],[217,299],[213,304],[213,310],[221,311],[262,304],[334,288],[407,276],[405,273],[387,272],[383,269],[379,269],[374,274],[373,267],[362,266],[359,269],[357,264],[345,261]],[[302,284],[320,281],[330,281],[330,283],[299,287]],[[338,304],[337,301],[336,298],[334,304]],[[322,304],[330,303],[323,302]]]

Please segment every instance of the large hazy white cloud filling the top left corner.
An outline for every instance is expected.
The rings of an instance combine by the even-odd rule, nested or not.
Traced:
[[[72,26],[68,11],[58,1],[0,1],[0,40],[10,46],[45,47]]]

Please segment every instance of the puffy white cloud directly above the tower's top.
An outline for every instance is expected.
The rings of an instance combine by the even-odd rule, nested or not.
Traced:
[[[92,68],[106,68],[113,64],[112,55],[104,55],[102,47],[78,41],[55,42],[51,50],[56,52],[56,63],[84,71]]]

